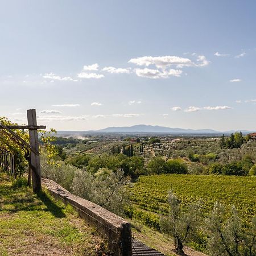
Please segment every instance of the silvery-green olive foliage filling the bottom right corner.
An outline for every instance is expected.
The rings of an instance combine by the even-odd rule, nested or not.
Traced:
[[[255,220],[253,219],[245,230],[235,207],[232,207],[229,216],[226,218],[223,205],[215,203],[205,221],[210,255],[256,255]]]

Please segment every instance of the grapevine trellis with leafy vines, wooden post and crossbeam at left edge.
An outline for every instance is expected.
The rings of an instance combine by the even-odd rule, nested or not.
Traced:
[[[0,167],[16,176],[19,171],[17,165],[19,154],[22,154],[21,149],[28,162],[28,184],[31,183],[32,178],[33,191],[39,192],[42,189],[42,181],[38,129],[46,129],[46,126],[37,125],[35,109],[27,110],[27,120],[28,125],[11,125],[7,119],[1,120]],[[28,134],[24,130],[28,130]]]

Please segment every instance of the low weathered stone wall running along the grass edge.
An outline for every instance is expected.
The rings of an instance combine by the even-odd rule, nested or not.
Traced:
[[[42,181],[55,199],[71,204],[79,212],[81,218],[94,226],[101,236],[106,238],[113,255],[131,255],[131,227],[128,221],[97,204],[73,195],[52,180],[42,179]]]

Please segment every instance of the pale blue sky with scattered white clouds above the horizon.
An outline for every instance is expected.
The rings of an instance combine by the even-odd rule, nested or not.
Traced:
[[[256,1],[0,0],[0,116],[256,130]]]

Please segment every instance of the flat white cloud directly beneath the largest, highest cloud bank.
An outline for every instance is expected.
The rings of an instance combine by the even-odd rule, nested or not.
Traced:
[[[137,76],[139,77],[147,77],[150,79],[166,79],[170,76],[180,76],[182,71],[179,69],[170,69],[169,71],[159,71],[158,69],[150,69],[150,68],[137,68],[135,69]]]

